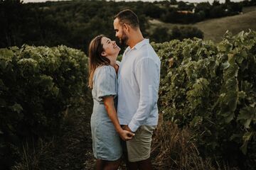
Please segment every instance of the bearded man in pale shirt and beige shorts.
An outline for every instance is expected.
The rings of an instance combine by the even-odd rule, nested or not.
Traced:
[[[128,169],[152,169],[150,162],[151,138],[158,123],[157,99],[160,60],[144,39],[139,19],[131,10],[114,17],[115,35],[129,47],[124,51],[118,72],[119,123],[125,130],[135,132],[126,142]]]

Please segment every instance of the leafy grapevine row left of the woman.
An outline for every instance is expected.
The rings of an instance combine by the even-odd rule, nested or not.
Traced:
[[[87,57],[65,46],[0,49],[0,166],[25,139],[58,132],[70,100],[85,94]]]

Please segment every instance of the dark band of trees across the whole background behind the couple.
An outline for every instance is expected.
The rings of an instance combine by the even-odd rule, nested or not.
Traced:
[[[48,47],[67,45],[87,53],[87,46],[96,35],[105,34],[115,39],[113,16],[124,8],[130,8],[137,13],[144,36],[155,42],[203,38],[203,33],[198,28],[174,30],[157,28],[153,32],[148,31],[150,26],[148,21],[156,18],[171,23],[191,23],[220,15],[220,12],[215,10],[220,7],[221,10],[229,9],[221,16],[242,10],[241,3],[219,4],[218,1],[213,5],[200,3],[196,6],[182,1],[150,3],[74,0],[23,4],[20,0],[2,0],[0,1],[0,47],[15,45],[21,47],[24,43]],[[178,12],[193,11],[193,9],[195,13]]]

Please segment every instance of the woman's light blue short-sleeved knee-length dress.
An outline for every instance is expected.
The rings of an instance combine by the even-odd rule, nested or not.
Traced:
[[[92,149],[96,159],[114,161],[122,156],[119,134],[107,115],[102,97],[114,96],[117,108],[117,74],[112,66],[102,66],[95,70],[93,77],[93,111],[90,120]]]

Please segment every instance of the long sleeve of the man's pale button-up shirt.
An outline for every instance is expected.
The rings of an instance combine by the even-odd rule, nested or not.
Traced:
[[[135,67],[135,77],[139,85],[139,107],[128,125],[133,132],[143,125],[157,104],[159,74],[159,63],[149,57],[139,60]]]

